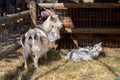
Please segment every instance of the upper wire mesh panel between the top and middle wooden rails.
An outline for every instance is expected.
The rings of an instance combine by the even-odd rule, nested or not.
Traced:
[[[69,27],[72,22],[74,27],[79,28],[120,28],[120,8],[70,8],[59,11],[64,16],[63,23]]]

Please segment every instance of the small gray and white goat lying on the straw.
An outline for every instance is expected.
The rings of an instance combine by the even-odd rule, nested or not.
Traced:
[[[100,52],[102,51],[102,42],[100,42],[98,44],[95,44],[93,47],[78,48],[72,50],[68,53],[68,55],[65,58],[67,60],[73,59],[74,61],[89,61],[93,60],[95,57],[98,57]]]

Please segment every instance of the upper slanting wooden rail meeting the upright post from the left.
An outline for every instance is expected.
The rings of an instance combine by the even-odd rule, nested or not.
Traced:
[[[16,14],[6,15],[0,18],[0,24],[9,23],[9,22],[16,21],[18,19],[29,17],[29,14],[30,14],[30,11],[28,10],[28,11],[24,11]]]

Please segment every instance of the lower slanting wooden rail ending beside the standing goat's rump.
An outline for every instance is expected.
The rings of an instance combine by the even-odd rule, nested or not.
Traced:
[[[2,51],[0,51],[0,60],[2,60],[3,58],[5,58],[10,53],[16,51],[20,47],[21,47],[21,43],[19,41],[15,42],[15,43],[13,43],[11,45],[9,45],[7,48],[5,48]]]

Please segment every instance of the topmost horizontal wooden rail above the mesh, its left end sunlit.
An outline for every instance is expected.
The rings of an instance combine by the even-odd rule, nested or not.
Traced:
[[[39,6],[55,9],[67,8],[120,8],[120,3],[38,3]]]

